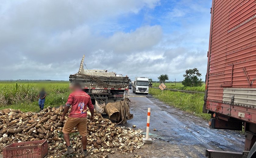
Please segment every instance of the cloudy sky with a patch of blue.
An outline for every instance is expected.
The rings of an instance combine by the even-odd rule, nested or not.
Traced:
[[[68,80],[88,69],[204,80],[212,0],[2,0],[0,80]]]

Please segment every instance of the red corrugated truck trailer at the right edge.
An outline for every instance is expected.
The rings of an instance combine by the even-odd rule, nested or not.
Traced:
[[[242,153],[244,158],[256,157],[255,11],[255,0],[213,0],[203,108],[212,114],[212,129],[242,130],[244,125],[244,150],[251,150]],[[218,154],[206,152],[211,158]]]

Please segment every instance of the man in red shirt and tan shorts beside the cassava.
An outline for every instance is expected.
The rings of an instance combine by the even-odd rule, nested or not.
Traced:
[[[66,153],[71,154],[74,152],[74,149],[70,145],[69,133],[77,128],[79,134],[82,136],[83,143],[83,155],[87,156],[88,152],[86,149],[87,144],[87,112],[86,109],[90,109],[91,112],[91,121],[94,121],[94,107],[91,103],[91,97],[82,91],[81,85],[79,83],[74,84],[73,92],[69,95],[68,101],[66,102],[66,106],[64,107],[64,111],[62,114],[61,120],[64,121],[66,113],[69,111],[71,107],[71,111],[69,117],[62,129],[63,136],[66,142],[66,146],[68,147]]]

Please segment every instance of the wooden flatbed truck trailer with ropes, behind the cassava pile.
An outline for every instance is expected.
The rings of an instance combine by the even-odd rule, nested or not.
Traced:
[[[84,70],[84,56],[78,73],[69,76],[70,87],[74,83],[80,83],[83,91],[91,96],[92,103],[95,100],[99,104],[107,104],[123,100],[128,95],[129,77],[117,75],[107,70]]]

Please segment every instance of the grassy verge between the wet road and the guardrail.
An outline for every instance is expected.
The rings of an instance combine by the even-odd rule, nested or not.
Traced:
[[[204,105],[204,94],[188,94],[174,91],[163,91],[162,95],[161,93],[162,92],[160,89],[149,89],[149,94],[168,105],[193,113],[194,115],[200,116],[203,119],[210,118],[209,114],[204,114],[202,112]]]

